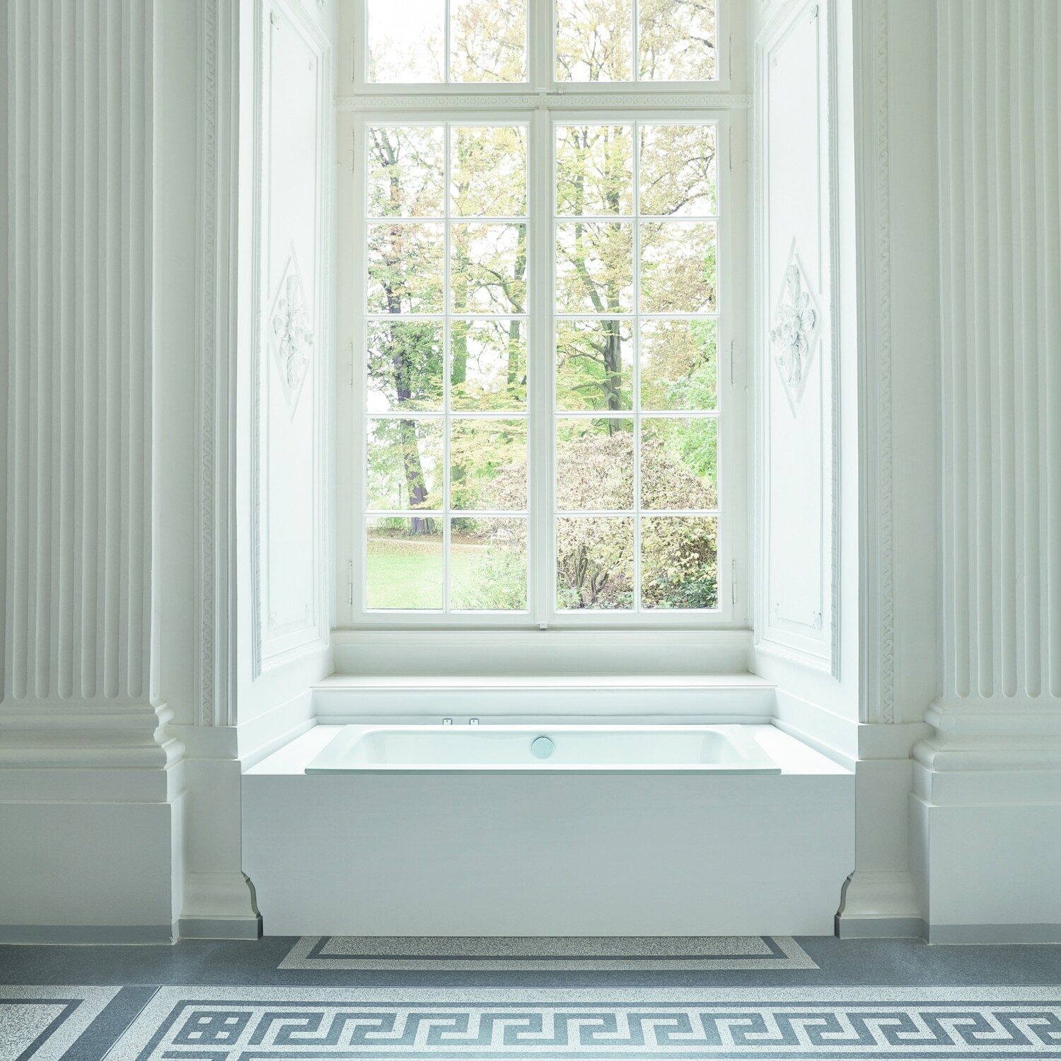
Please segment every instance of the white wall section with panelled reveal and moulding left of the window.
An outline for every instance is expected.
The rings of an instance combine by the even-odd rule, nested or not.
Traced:
[[[242,872],[242,768],[310,725],[309,685],[331,669],[335,4],[198,7],[201,684],[180,731],[180,929],[244,937],[259,919]]]

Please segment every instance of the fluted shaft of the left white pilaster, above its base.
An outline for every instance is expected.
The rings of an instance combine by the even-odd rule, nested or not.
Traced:
[[[8,0],[3,712],[152,697],[152,4]]]

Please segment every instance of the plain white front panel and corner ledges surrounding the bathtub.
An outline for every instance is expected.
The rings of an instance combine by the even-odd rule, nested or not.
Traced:
[[[833,932],[854,777],[771,726],[779,773],[307,775],[317,726],[243,777],[266,935]]]

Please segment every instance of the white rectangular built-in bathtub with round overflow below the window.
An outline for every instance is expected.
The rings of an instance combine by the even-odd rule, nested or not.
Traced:
[[[748,726],[344,726],[307,773],[780,773]]]

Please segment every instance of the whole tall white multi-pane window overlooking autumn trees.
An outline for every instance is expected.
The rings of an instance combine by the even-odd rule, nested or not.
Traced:
[[[725,622],[743,311],[712,0],[362,2],[349,621]]]

